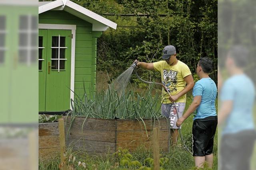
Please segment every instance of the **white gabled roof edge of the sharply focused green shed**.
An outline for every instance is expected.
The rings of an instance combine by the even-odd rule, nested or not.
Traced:
[[[39,2],[38,14],[49,10],[64,10],[82,20],[92,23],[92,31],[106,31],[108,27],[116,29],[116,23],[70,1],[55,0],[51,2]]]

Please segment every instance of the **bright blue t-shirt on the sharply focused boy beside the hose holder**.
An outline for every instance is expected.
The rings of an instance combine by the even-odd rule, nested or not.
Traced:
[[[198,80],[193,88],[193,96],[202,96],[201,103],[196,109],[194,119],[204,119],[209,116],[216,116],[215,99],[217,87],[211,78]]]

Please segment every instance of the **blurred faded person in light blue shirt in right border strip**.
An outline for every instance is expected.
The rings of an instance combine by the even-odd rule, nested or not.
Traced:
[[[218,123],[222,125],[221,170],[250,170],[256,137],[253,121],[255,89],[252,80],[244,73],[247,58],[248,50],[240,45],[233,46],[226,58],[230,77],[221,87],[218,111]]]

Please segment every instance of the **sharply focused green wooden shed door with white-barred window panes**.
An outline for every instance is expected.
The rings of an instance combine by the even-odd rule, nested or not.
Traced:
[[[71,30],[40,30],[39,43],[40,39],[45,48],[42,57],[39,54],[39,111],[66,111],[70,109]]]

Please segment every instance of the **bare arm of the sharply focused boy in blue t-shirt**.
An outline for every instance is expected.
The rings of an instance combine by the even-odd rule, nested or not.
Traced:
[[[184,113],[182,117],[178,119],[176,122],[176,125],[180,127],[180,125],[186,120],[195,110],[196,108],[200,105],[201,103],[202,96],[195,96],[192,104],[188,107],[188,110]]]

